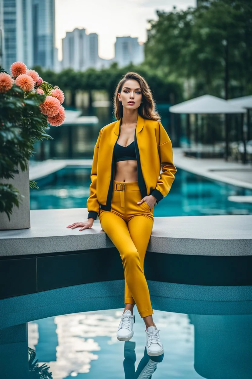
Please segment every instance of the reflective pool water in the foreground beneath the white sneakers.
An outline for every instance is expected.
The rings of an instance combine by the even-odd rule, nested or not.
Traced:
[[[136,379],[148,363],[145,326],[135,312],[134,336],[116,330],[123,309],[73,313],[28,323],[29,347],[54,379]],[[187,315],[154,311],[164,355],[153,379],[249,379],[252,315]],[[150,376],[143,376],[150,378]]]

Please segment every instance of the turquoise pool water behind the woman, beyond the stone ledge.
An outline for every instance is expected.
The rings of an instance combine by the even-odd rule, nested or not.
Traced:
[[[90,168],[68,167],[37,180],[31,209],[86,208]],[[154,208],[154,216],[251,215],[252,204],[231,202],[229,196],[252,190],[215,182],[178,169],[170,193]]]

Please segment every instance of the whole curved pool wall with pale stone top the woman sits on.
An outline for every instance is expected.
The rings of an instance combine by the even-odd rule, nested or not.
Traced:
[[[33,210],[31,229],[0,231],[0,329],[123,306],[122,260],[99,218],[66,228],[87,213]],[[155,217],[144,262],[154,309],[251,312],[251,230],[252,215]]]

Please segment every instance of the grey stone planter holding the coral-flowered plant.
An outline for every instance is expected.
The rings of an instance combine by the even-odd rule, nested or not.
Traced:
[[[15,205],[12,208],[11,221],[9,221],[6,213],[0,213],[0,230],[13,230],[13,229],[29,229],[30,224],[30,189],[29,189],[29,162],[28,169],[24,172],[18,167],[19,174],[14,175],[14,179],[2,179],[2,183],[10,183],[15,188],[19,189],[22,197],[20,200],[19,208]]]

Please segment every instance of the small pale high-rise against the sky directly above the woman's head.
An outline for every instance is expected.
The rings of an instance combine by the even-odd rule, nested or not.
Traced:
[[[119,67],[130,63],[140,64],[144,61],[144,44],[139,43],[136,37],[116,37],[114,55]]]

